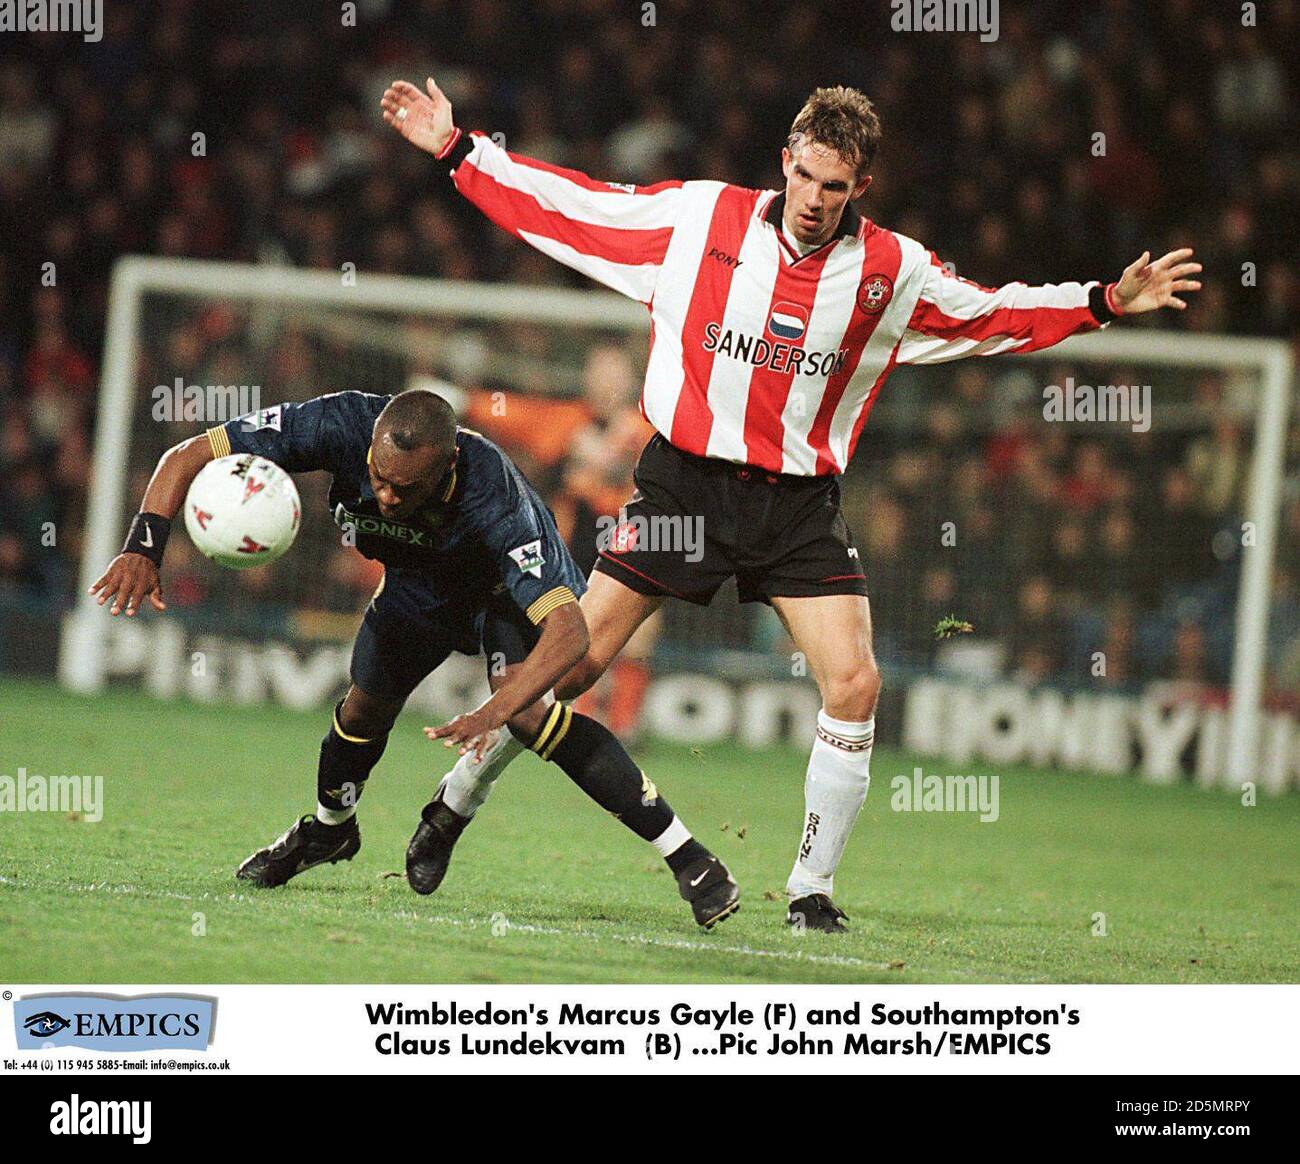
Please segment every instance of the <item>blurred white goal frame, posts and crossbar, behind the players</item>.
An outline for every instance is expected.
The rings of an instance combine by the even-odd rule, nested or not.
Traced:
[[[78,691],[99,691],[105,681],[107,619],[88,587],[117,553],[133,459],[144,455],[135,417],[142,336],[150,326],[147,304],[156,297],[177,302],[216,302],[270,311],[358,312],[398,321],[422,319],[474,324],[537,325],[546,329],[593,329],[602,333],[647,333],[645,308],[606,291],[559,287],[465,284],[285,267],[212,263],[190,259],[131,256],[120,260],[109,291],[103,373],[94,434],[94,459],[82,542],[77,609],[69,615],[60,650],[61,681]],[[1002,358],[998,358],[1002,359]],[[1072,337],[1053,349],[1017,355],[1014,360],[1054,363],[1112,362],[1170,368],[1210,368],[1249,373],[1254,393],[1254,434],[1245,515],[1253,523],[1253,545],[1244,551],[1231,657],[1231,705],[1226,776],[1252,779],[1260,747],[1265,691],[1270,577],[1279,538],[1286,436],[1294,378],[1290,345],[1277,339],[1202,336],[1127,328],[1124,324]],[[954,365],[956,367],[956,365]],[[940,375],[944,373],[939,369]],[[264,403],[276,403],[268,399]],[[875,419],[872,420],[875,423]],[[866,433],[866,445],[871,429]],[[859,454],[861,456],[861,454]]]

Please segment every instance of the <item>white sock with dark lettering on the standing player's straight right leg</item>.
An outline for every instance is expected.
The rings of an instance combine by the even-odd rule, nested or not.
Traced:
[[[836,866],[867,799],[875,730],[875,717],[849,723],[818,711],[816,739],[803,782],[803,836],[785,883],[792,901],[809,893],[831,896]]]

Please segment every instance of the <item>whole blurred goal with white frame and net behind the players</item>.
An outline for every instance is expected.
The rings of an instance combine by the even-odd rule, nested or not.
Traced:
[[[515,456],[589,566],[593,525],[616,512],[647,432],[628,399],[647,330],[644,308],[603,293],[122,260],[82,590],[178,440],[282,401],[416,385]],[[885,679],[881,739],[957,762],[1300,783],[1291,390],[1286,343],[1131,324],[900,368],[844,479]],[[381,568],[342,544],[324,475],[298,484],[303,529],[273,566],[222,571],[178,529],[165,618],[109,620],[83,594],[64,683],[335,697]],[[818,706],[780,622],[734,588],[707,609],[667,603],[646,654],[651,731],[802,739]],[[416,704],[463,710],[481,676],[481,662],[448,661]]]

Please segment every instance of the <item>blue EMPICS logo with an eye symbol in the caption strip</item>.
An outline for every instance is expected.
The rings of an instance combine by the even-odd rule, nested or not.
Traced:
[[[205,1051],[216,999],[186,995],[30,995],[13,1004],[20,1051]]]

